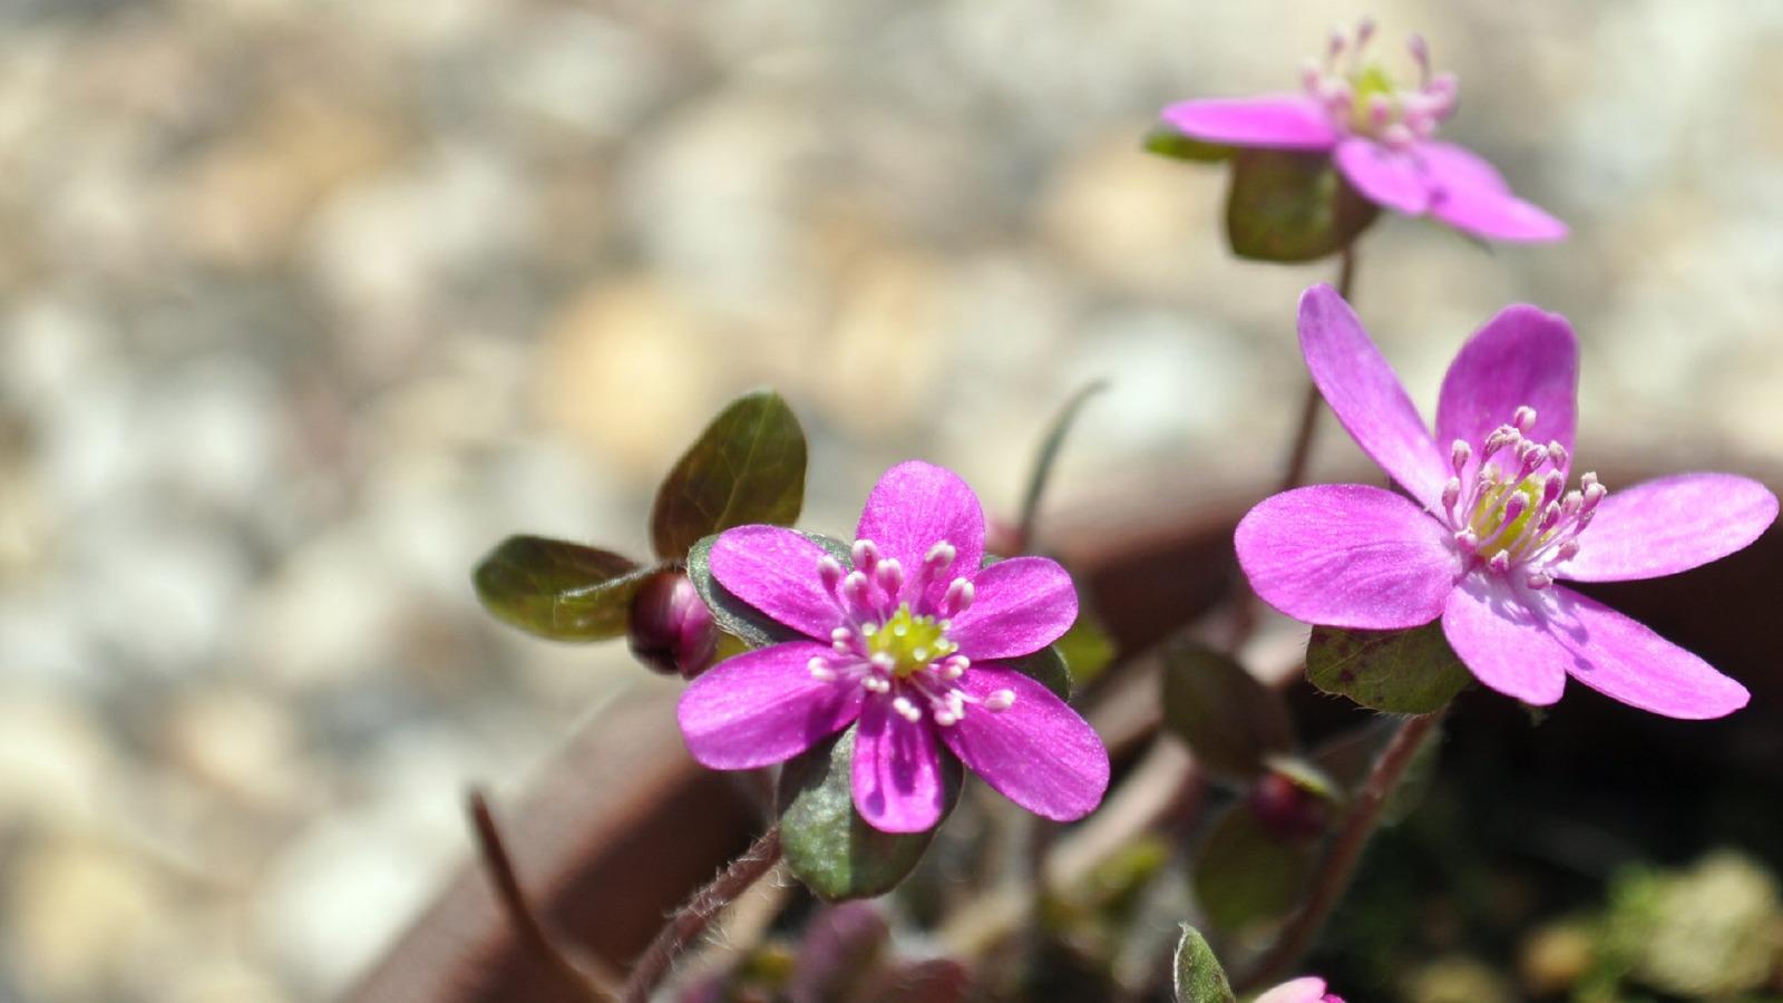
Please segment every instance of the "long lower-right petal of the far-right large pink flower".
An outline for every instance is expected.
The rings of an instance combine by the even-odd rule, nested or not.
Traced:
[[[1596,600],[1562,585],[1544,598],[1548,632],[1571,655],[1565,671],[1612,700],[1690,721],[1724,717],[1751,700],[1703,659]]]

